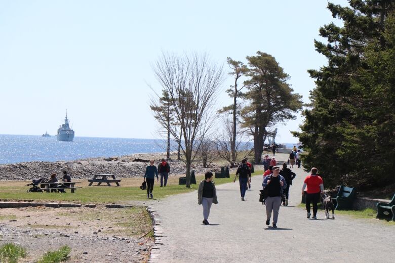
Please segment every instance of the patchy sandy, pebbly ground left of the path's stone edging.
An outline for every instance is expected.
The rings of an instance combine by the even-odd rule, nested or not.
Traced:
[[[22,262],[35,261],[63,245],[71,248],[67,262],[147,262],[153,238],[139,238],[151,226],[133,227],[146,218],[141,211],[128,209],[2,208],[0,243],[15,242],[27,248],[28,257]]]

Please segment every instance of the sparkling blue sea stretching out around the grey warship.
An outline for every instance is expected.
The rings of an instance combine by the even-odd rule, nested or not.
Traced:
[[[163,140],[75,137],[73,142],[58,142],[56,136],[0,135],[0,164],[165,151]]]

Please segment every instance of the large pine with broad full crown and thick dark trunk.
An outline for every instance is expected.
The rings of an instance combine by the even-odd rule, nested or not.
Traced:
[[[255,162],[262,158],[263,143],[268,131],[267,127],[288,119],[295,119],[295,112],[301,109],[299,94],[287,83],[286,74],[274,57],[258,51],[257,56],[247,57],[249,70],[244,82],[247,91],[244,98],[248,105],[243,108],[242,125],[250,128],[254,137]]]

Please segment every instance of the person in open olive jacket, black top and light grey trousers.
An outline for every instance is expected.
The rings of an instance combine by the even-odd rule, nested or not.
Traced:
[[[210,225],[207,221],[210,215],[211,205],[218,204],[217,190],[213,180],[213,173],[208,171],[205,173],[205,180],[202,180],[198,188],[198,204],[203,206],[203,224]]]

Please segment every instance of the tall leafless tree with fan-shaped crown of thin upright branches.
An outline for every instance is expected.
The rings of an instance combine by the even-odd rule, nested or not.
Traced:
[[[173,104],[173,118],[179,125],[171,126],[170,133],[181,147],[186,187],[190,187],[190,166],[214,121],[213,106],[223,81],[223,67],[212,63],[207,54],[163,53],[153,71]]]

